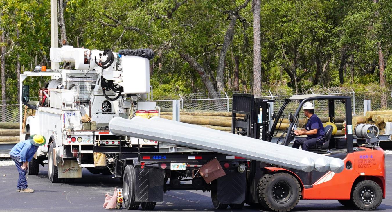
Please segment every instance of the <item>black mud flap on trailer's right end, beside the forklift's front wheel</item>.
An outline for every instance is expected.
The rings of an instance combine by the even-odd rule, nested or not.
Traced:
[[[245,200],[245,172],[225,170],[226,175],[218,178],[218,201],[220,203],[242,203]]]

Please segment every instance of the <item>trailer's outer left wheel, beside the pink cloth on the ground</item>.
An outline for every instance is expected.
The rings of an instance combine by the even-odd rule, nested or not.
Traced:
[[[128,210],[137,210],[140,204],[140,202],[135,201],[135,180],[135,168],[132,165],[127,165],[123,177],[123,198],[125,208]]]

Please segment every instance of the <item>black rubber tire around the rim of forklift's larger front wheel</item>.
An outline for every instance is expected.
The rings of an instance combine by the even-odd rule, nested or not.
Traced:
[[[286,208],[286,209],[275,208],[271,203],[269,203],[268,201],[265,201],[266,199],[268,199],[268,196],[267,196],[268,194],[267,194],[266,190],[268,188],[269,183],[272,181],[273,178],[276,178],[279,175],[286,176],[288,178],[292,178],[296,182],[296,186],[298,187],[298,190],[299,190],[298,197],[296,198],[296,202],[293,205],[291,205],[290,208]],[[298,180],[296,178],[294,178],[294,176],[292,176],[289,173],[278,172],[275,174],[265,174],[259,181],[259,186],[258,186],[259,203],[260,203],[261,207],[263,207],[267,210],[272,210],[272,211],[276,211],[276,212],[290,211],[294,207],[296,207],[299,200],[301,199],[301,195],[300,195],[301,192],[300,191],[301,191],[301,186],[299,185]]]

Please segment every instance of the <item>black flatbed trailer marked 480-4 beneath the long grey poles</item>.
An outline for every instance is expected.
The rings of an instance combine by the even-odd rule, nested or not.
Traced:
[[[114,178],[122,178],[123,205],[127,209],[136,210],[141,205],[143,210],[152,210],[157,202],[163,201],[163,193],[168,190],[211,192],[217,209],[229,205],[238,209],[245,203],[248,165],[245,158],[203,150],[159,152],[159,145],[156,148],[95,146],[94,152],[115,159]],[[200,168],[207,163],[211,164],[210,170],[205,170],[207,176],[203,177]],[[205,178],[213,180],[207,183]]]

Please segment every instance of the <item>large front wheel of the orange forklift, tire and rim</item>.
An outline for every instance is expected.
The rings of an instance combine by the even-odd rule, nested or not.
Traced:
[[[292,210],[298,204],[300,194],[297,179],[285,172],[267,174],[259,181],[259,203],[272,211]]]

